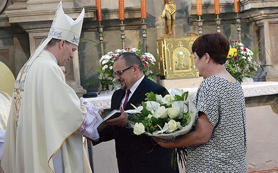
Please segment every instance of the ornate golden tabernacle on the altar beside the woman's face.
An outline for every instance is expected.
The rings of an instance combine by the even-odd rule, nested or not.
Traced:
[[[197,78],[199,71],[194,63],[191,46],[196,36],[158,39],[157,53],[161,79]]]

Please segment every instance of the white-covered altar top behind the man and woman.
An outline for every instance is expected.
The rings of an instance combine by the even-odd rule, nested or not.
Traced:
[[[272,111],[278,114],[275,105],[278,104],[278,82],[252,82],[242,84],[245,95],[246,107],[256,107],[260,105],[271,105]],[[168,89],[170,91],[171,89]],[[197,87],[183,88],[189,94],[195,95]],[[110,109],[111,94],[100,94],[97,98],[80,98],[81,104],[91,104],[102,109]]]

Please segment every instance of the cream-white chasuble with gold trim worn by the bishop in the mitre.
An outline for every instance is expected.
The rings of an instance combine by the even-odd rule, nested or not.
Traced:
[[[86,108],[65,83],[60,67],[47,51],[19,73],[6,130],[3,172],[54,172],[60,150],[65,172],[84,172],[81,127]],[[25,80],[25,81],[24,81]],[[19,85],[17,87],[16,85]]]

